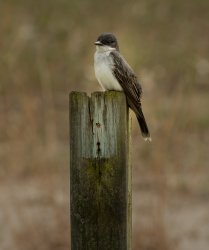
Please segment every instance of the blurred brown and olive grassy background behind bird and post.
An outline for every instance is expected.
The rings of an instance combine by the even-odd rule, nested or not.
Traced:
[[[100,91],[113,32],[139,76],[153,142],[132,115],[133,250],[209,249],[209,1],[0,2],[0,248],[67,250],[69,92]]]

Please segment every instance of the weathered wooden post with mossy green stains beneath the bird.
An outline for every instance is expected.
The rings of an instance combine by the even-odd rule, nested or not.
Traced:
[[[128,120],[121,92],[70,94],[71,250],[131,249]]]

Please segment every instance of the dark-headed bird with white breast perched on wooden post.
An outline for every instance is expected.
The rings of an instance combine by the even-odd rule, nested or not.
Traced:
[[[142,87],[125,58],[121,55],[117,38],[112,33],[102,33],[97,38],[94,54],[94,71],[96,79],[103,90],[123,91],[128,106],[134,111],[142,137],[152,141],[142,112]]]

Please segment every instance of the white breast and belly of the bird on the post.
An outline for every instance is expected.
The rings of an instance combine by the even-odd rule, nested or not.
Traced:
[[[113,59],[110,56],[111,51],[103,51],[99,52],[96,51],[94,54],[94,70],[95,75],[105,90],[116,90],[116,91],[122,91],[122,87],[118,83],[117,79],[113,75],[112,67]]]

